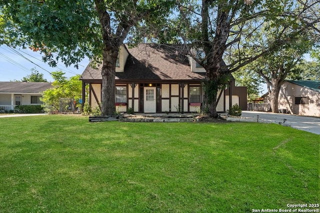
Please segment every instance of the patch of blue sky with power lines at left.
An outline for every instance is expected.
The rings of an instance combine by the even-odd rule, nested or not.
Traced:
[[[50,67],[42,62],[39,52],[33,52],[30,49],[15,48],[12,49],[6,45],[0,45],[0,81],[21,80],[23,77],[31,74],[31,69],[36,69],[43,74],[43,78],[52,82],[53,78],[50,72],[62,70],[66,77],[76,74],[82,74],[89,63],[88,58],[84,58],[78,69],[73,65],[65,67],[63,63],[58,63],[57,67]]]

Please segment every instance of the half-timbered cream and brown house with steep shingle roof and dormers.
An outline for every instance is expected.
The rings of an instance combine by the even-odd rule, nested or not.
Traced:
[[[192,58],[179,54],[173,45],[138,44],[131,49],[121,46],[115,68],[116,109],[126,112],[132,108],[137,113],[197,112],[203,101],[204,76],[205,70]],[[90,106],[99,105],[101,66],[94,69],[89,64],[80,80],[82,91],[89,85]],[[230,86],[230,90],[221,91],[217,111],[227,110],[229,101],[246,110],[246,87],[235,87],[232,75]],[[82,96],[85,100],[84,92]]]

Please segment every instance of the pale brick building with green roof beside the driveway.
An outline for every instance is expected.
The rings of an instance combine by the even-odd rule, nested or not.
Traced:
[[[264,102],[268,101],[266,96]],[[320,117],[320,81],[285,81],[280,88],[278,108],[282,113]]]

